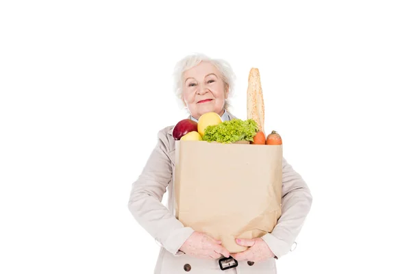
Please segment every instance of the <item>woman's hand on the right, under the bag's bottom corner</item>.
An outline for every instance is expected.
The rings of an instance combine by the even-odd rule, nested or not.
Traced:
[[[262,238],[236,239],[236,243],[242,247],[249,247],[246,251],[231,254],[238,261],[263,262],[275,256]]]

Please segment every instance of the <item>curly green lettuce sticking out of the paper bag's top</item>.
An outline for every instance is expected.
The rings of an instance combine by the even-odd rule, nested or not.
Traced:
[[[208,142],[237,142],[240,140],[253,141],[258,132],[258,125],[253,119],[242,121],[234,119],[218,125],[209,125],[204,129],[203,140]]]

